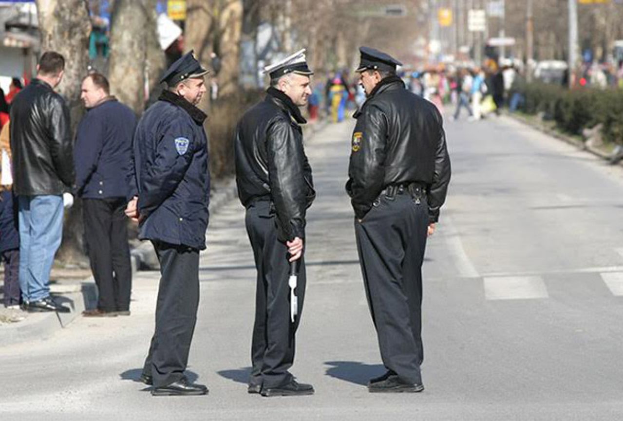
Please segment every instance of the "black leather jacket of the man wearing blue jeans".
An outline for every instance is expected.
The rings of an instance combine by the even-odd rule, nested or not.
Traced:
[[[11,104],[15,194],[63,194],[74,184],[69,108],[50,85],[34,79]]]

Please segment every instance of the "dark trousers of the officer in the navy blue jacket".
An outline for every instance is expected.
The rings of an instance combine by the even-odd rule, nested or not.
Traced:
[[[160,263],[156,329],[143,374],[154,387],[184,377],[199,307],[199,250],[153,241]]]

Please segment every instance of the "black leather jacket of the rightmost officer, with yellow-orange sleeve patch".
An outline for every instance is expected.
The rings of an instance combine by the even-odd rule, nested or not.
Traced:
[[[354,117],[346,191],[356,217],[368,213],[385,187],[419,182],[426,186],[429,220],[437,222],[450,182],[450,156],[435,105],[393,76],[381,80]]]

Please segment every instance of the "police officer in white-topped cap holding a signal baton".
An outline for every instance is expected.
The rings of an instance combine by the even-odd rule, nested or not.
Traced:
[[[307,105],[312,71],[305,50],[269,66],[265,99],[250,108],[235,136],[236,181],[247,209],[247,234],[257,268],[255,324],[249,393],[262,396],[311,395],[295,381],[292,367],[305,296],[305,212],[315,198],[312,169],[303,149],[298,109]],[[290,314],[288,272],[298,266],[297,315]]]

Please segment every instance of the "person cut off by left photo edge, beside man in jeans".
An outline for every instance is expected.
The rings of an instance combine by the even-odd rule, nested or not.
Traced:
[[[12,192],[11,122],[0,130],[0,256],[4,261],[4,306],[19,309],[19,227],[17,226],[17,203]]]

